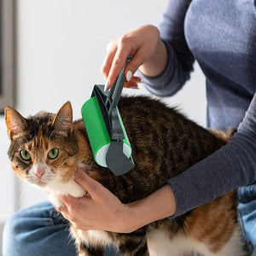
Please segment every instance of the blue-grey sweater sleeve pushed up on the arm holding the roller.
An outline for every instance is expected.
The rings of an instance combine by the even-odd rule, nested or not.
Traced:
[[[170,0],[160,23],[160,38],[166,44],[166,68],[156,77],[139,73],[143,84],[157,96],[172,96],[183,87],[195,61],[184,36],[184,18],[191,0]]]

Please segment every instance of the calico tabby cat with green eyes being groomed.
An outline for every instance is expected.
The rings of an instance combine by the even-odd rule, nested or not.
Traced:
[[[149,97],[121,97],[125,130],[135,167],[122,176],[93,159],[82,119],[73,121],[70,102],[58,113],[40,112],[24,118],[5,108],[10,139],[9,160],[18,177],[46,189],[56,209],[56,193],[76,197],[86,191],[73,180],[83,168],[123,203],[144,198],[166,181],[221,148],[226,142],[187,119],[176,108]],[[104,253],[113,245],[125,256],[248,255],[236,216],[236,190],[177,218],[164,218],[130,234],[76,230],[70,225],[80,256]]]

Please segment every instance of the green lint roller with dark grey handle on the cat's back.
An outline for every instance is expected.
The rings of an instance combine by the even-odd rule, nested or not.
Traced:
[[[131,61],[127,57],[125,66]],[[123,67],[110,90],[96,84],[90,100],[81,109],[90,148],[99,166],[108,167],[115,175],[123,175],[134,167],[131,144],[119,114],[118,102],[125,84]]]

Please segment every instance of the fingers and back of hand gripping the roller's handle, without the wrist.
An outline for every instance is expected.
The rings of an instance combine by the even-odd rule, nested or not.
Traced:
[[[102,65],[102,74],[107,79],[105,90],[112,86],[124,67],[127,56],[131,54],[132,59],[125,67],[124,73],[125,80],[130,82],[138,67],[154,55],[159,40],[158,28],[148,25],[139,26],[108,44],[108,53]]]

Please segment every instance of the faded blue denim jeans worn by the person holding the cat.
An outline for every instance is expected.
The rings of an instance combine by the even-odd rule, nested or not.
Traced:
[[[247,191],[247,190],[246,190]],[[244,195],[240,191],[240,196]],[[249,201],[252,202],[252,201]],[[252,205],[249,202],[240,203],[239,216],[242,226],[249,229],[245,232],[251,248],[256,240],[256,201],[253,201],[254,213],[247,214]],[[252,216],[254,214],[254,221]],[[247,222],[247,220],[249,220]],[[249,241],[249,239],[252,239]],[[3,256],[75,256],[74,242],[69,236],[68,222],[62,218],[49,202],[15,213],[6,223],[3,231]],[[113,248],[107,248],[105,256],[117,256]],[[256,256],[256,248],[253,251]]]

